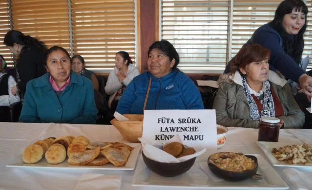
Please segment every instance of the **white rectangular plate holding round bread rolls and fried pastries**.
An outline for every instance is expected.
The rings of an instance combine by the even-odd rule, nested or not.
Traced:
[[[104,164],[102,166],[72,166],[67,162],[67,159],[63,161],[62,163],[53,165],[49,164],[45,158],[42,158],[39,162],[36,164],[25,164],[22,160],[22,155],[16,157],[12,164],[6,165],[6,167],[30,167],[30,168],[60,168],[60,169],[92,169],[92,170],[134,170],[137,162],[137,156],[140,153],[141,150],[141,144],[140,143],[125,143],[128,144],[134,149],[131,151],[131,154],[129,155],[128,161],[126,165],[121,167],[116,167],[111,163]]]

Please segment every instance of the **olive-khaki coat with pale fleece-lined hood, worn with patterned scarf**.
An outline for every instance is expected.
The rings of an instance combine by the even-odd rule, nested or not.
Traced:
[[[278,117],[284,121],[284,128],[302,128],[305,116],[292,97],[286,80],[273,71],[269,71],[270,85],[278,96],[284,115]],[[219,77],[219,88],[213,104],[216,122],[224,126],[258,128],[259,121],[249,120],[250,107],[244,95],[241,75],[223,74]]]

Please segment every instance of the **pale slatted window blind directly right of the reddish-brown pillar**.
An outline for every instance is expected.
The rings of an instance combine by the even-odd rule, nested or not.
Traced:
[[[182,71],[223,70],[228,25],[229,0],[161,2],[161,39],[175,46]]]

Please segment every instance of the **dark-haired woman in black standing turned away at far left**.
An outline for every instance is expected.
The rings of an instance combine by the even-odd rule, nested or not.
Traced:
[[[16,59],[17,85],[12,87],[12,94],[18,91],[21,98],[26,91],[26,84],[31,79],[43,75],[45,51],[47,47],[43,42],[20,31],[11,30],[4,36],[3,43],[13,53]]]

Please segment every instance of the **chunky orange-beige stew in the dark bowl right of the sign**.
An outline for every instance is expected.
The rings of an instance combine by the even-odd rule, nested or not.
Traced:
[[[237,153],[215,153],[210,156],[209,161],[218,168],[230,172],[253,170],[256,166],[253,159]]]

